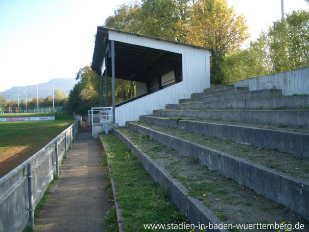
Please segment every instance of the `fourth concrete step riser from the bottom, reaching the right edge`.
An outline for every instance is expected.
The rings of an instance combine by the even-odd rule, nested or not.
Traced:
[[[244,123],[309,126],[309,110],[154,110],[153,114]]]

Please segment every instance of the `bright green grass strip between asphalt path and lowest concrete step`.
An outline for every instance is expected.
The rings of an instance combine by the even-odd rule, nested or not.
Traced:
[[[146,231],[144,224],[186,222],[169,198],[168,190],[152,179],[127,146],[113,134],[101,136],[108,151],[117,199],[123,210],[125,231]]]

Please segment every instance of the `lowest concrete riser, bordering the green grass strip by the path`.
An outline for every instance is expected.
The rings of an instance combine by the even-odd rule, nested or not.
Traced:
[[[152,178],[163,188],[168,188],[170,190],[172,201],[191,223],[196,226],[200,224],[208,225],[209,223],[219,225],[222,223],[201,201],[193,197],[187,197],[187,189],[176,179],[172,178],[167,171],[156,163],[156,161],[138,149],[129,138],[125,137],[116,129],[114,129],[113,132],[132,149],[133,153],[137,156],[142,166],[144,166]],[[228,232],[228,230],[225,229],[212,229],[211,231]]]

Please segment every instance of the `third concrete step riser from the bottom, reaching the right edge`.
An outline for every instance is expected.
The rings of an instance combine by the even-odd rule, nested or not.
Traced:
[[[140,117],[140,121],[185,129],[194,133],[216,136],[239,143],[275,148],[279,151],[309,158],[309,134],[151,117]]]

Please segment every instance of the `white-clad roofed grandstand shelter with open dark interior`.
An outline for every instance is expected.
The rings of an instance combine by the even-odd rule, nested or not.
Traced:
[[[119,126],[176,104],[210,87],[210,56],[210,49],[191,44],[98,27],[91,68],[100,76],[101,106],[107,77],[112,77],[113,123]],[[115,78],[135,81],[136,97],[116,105]]]

